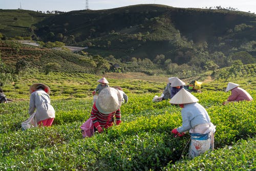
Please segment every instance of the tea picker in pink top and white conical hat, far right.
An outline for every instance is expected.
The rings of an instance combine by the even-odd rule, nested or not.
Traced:
[[[224,105],[230,101],[252,100],[251,95],[244,89],[239,88],[239,86],[239,84],[228,82],[225,92],[231,91],[231,95],[228,97],[227,101],[223,102]]]

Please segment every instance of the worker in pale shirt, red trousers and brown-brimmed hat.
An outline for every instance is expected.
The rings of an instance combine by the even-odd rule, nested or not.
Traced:
[[[35,111],[38,126],[51,126],[55,110],[51,105],[50,88],[43,83],[34,83],[30,87],[29,115]]]

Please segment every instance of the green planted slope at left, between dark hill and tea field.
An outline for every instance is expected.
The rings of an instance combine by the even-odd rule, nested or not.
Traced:
[[[92,73],[95,67],[92,58],[68,51],[38,48],[18,42],[13,42],[13,45],[10,46],[7,42],[0,41],[2,61],[8,67],[14,69],[15,63],[21,58],[25,59],[30,67],[37,68],[41,72],[44,71],[45,65],[49,62],[57,62],[61,66],[59,69],[60,72]],[[14,48],[13,46],[18,48]]]

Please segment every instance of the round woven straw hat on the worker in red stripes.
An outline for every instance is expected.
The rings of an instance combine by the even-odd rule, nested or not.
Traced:
[[[114,88],[104,88],[98,95],[95,103],[99,112],[103,114],[110,114],[117,111],[122,104],[122,96]]]

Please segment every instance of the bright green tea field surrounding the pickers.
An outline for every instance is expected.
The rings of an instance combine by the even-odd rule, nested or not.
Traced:
[[[255,72],[254,72],[255,73]],[[0,170],[254,170],[255,100],[222,105],[227,82],[203,83],[193,93],[216,125],[215,151],[187,158],[189,135],[170,132],[182,124],[181,108],[167,100],[153,102],[167,77],[106,77],[129,96],[121,106],[122,123],[102,134],[82,138],[80,125],[90,117],[92,91],[101,76],[50,73],[24,75],[2,87],[13,102],[0,104]],[[255,74],[235,78],[256,98]],[[203,81],[203,80],[199,80]],[[28,118],[29,87],[44,82],[51,88],[56,111],[52,127],[21,130]]]

